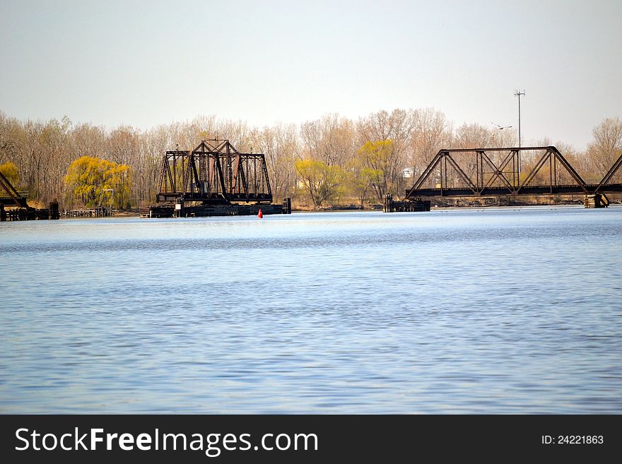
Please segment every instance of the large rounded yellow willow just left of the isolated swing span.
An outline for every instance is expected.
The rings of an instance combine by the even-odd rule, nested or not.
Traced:
[[[65,184],[71,195],[87,208],[106,206],[112,195],[112,207],[128,208],[131,169],[128,165],[82,156],[69,165]]]

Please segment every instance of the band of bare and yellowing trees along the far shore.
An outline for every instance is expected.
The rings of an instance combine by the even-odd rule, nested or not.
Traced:
[[[587,182],[598,182],[622,153],[622,121],[604,119],[592,133],[586,150],[556,146]],[[155,202],[165,151],[192,150],[207,138],[264,153],[275,200],[291,197],[311,208],[403,196],[441,148],[517,145],[516,131],[454,127],[431,108],[382,110],[357,120],[326,114],[262,128],[211,115],[147,130],[74,124],[68,117],[20,121],[0,112],[0,169],[31,201],[56,199],[72,208],[114,199],[115,208],[137,208]]]

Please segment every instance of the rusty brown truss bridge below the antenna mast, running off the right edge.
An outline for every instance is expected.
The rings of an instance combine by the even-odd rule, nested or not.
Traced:
[[[594,195],[622,192],[622,155],[588,184],[554,146],[440,150],[406,200],[429,196]]]

